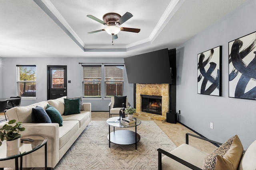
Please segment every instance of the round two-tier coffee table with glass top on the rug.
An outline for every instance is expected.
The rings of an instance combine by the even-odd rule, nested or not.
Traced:
[[[109,147],[110,142],[118,144],[118,145],[131,145],[135,144],[135,149],[137,149],[137,143],[140,141],[140,135],[137,133],[137,126],[141,124],[140,119],[136,119],[135,124],[126,125],[121,123],[118,120],[119,117],[111,117],[107,120],[108,123],[108,141]],[[110,133],[110,126],[114,127],[114,131]],[[115,127],[128,128],[135,127],[135,132],[130,130],[117,130],[115,131]]]

